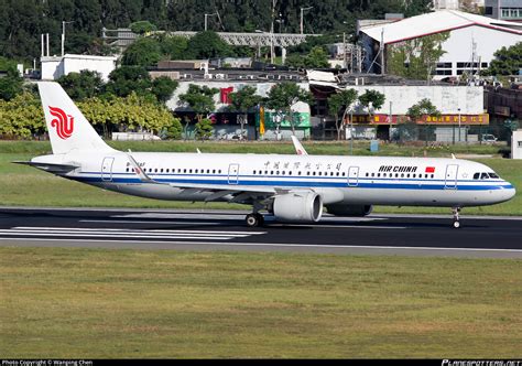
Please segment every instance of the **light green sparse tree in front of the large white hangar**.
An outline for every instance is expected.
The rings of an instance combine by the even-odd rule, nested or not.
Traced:
[[[437,61],[446,52],[442,44],[449,32],[426,35],[390,46],[388,73],[411,79],[429,80]]]

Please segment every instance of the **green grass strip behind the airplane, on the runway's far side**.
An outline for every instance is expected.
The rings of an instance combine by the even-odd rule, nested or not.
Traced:
[[[358,154],[368,153],[368,142],[355,144]],[[347,153],[347,143],[317,143],[306,144],[311,153],[340,154]],[[12,164],[12,161],[29,160],[39,154],[50,153],[48,142],[15,141],[0,142],[0,205],[10,206],[78,206],[78,207],[148,207],[148,208],[248,208],[242,205],[225,203],[185,203],[146,200],[127,196],[113,192],[102,191],[77,182],[56,177],[36,169]],[[196,151],[199,148],[205,152],[257,152],[257,153],[293,153],[290,143],[219,143],[219,142],[119,142],[115,143],[119,150],[133,151]],[[499,149],[492,146],[457,146],[460,153],[490,152],[494,154]],[[467,150],[465,150],[467,149]],[[422,148],[387,146],[382,154],[388,155],[422,155]],[[447,155],[441,149],[428,150],[428,155]],[[491,215],[522,215],[522,161],[504,160],[499,158],[479,159],[478,161],[491,166],[502,177],[518,187],[516,196],[503,204],[486,207],[466,208],[464,214]],[[376,207],[377,213],[435,213],[449,214],[447,208],[432,207]]]

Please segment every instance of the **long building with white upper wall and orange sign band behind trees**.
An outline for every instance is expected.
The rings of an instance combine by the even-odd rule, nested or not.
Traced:
[[[483,107],[482,86],[446,83],[425,85],[423,82],[395,76],[361,74],[347,76],[341,83],[311,79],[309,88],[316,99],[312,108],[312,125],[320,126],[315,133],[316,138],[320,138],[319,133],[326,139],[335,138],[335,121],[329,116],[327,99],[336,90],[345,88],[356,89],[358,95],[373,89],[385,96],[384,105],[371,114],[358,105],[348,111],[345,129],[349,127],[351,118],[355,139],[393,140],[399,126],[407,120],[407,109],[424,98],[428,98],[441,111],[438,118],[425,116],[415,121],[418,130],[426,126],[432,129],[431,140],[445,143],[471,142],[478,140],[478,134],[489,131],[489,115]]]

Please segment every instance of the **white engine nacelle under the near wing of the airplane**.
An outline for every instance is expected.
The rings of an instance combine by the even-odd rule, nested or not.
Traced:
[[[317,223],[323,215],[323,198],[314,192],[286,193],[274,198],[274,216],[287,223]]]

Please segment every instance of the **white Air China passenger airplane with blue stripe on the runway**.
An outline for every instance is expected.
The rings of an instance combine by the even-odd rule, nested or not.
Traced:
[[[511,200],[514,186],[485,164],[445,158],[118,151],[98,136],[57,83],[40,82],[53,153],[18,162],[101,189],[141,197],[252,206],[250,227],[313,224],[323,208],[366,216],[373,205],[463,207]],[[302,147],[301,147],[302,148]]]

